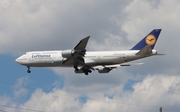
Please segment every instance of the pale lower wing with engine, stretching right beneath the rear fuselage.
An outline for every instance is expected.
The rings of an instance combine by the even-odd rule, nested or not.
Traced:
[[[131,65],[142,65],[143,63],[124,63],[115,65],[105,65],[105,66],[95,66],[94,69],[98,70],[99,73],[109,73],[111,70],[121,67],[121,66],[131,66]]]

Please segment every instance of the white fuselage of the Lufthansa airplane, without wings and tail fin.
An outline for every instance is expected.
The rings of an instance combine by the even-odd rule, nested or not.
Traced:
[[[26,52],[16,59],[16,62],[27,67],[73,67],[74,59],[62,56],[62,51],[34,51]],[[155,55],[156,50],[152,50],[150,55],[136,55],[139,50],[124,50],[124,51],[91,51],[86,52],[84,62],[89,66],[98,65],[114,65],[128,61],[133,61],[140,58]]]

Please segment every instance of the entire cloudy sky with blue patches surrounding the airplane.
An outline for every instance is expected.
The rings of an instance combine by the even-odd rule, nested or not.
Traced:
[[[179,112],[179,18],[179,0],[0,0],[0,111]],[[131,49],[155,28],[155,49],[166,55],[108,74],[28,74],[14,61],[27,51],[71,49],[89,35],[89,51]]]

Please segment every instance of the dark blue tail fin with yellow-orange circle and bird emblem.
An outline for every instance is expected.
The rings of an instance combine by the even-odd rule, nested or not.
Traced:
[[[145,36],[139,43],[137,43],[131,50],[141,50],[145,46],[151,46],[151,49],[154,49],[154,46],[158,40],[161,29],[152,30],[147,36]]]

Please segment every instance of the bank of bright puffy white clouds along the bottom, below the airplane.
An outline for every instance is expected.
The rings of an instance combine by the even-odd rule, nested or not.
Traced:
[[[162,106],[163,109],[178,112],[178,104],[180,104],[179,80],[180,76],[175,75],[148,75],[142,81],[132,85],[133,91],[123,91],[117,85],[106,92],[94,91],[87,94],[88,99],[84,103],[79,100],[83,91],[74,93],[54,88],[53,91],[46,93],[42,89],[36,89],[30,99],[19,107],[46,112],[124,112],[133,110],[152,112],[158,111],[159,107]],[[106,93],[112,97],[104,95]]]

